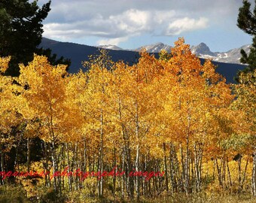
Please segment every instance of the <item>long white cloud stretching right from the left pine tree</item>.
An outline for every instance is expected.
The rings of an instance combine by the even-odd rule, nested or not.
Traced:
[[[123,41],[142,32],[150,32],[151,12],[130,9],[122,14],[110,15],[107,18],[97,14],[90,20],[72,23],[47,23],[44,25],[44,36],[55,38],[82,38],[97,36],[109,38],[108,41]],[[106,41],[106,40],[104,40]]]

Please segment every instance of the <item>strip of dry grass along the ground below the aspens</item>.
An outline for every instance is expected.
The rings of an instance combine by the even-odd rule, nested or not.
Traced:
[[[65,195],[62,200],[55,198],[53,200],[51,193],[41,190],[41,198],[29,199],[26,197],[26,191],[20,186],[0,186],[0,203],[2,202],[69,202],[69,203],[256,203],[256,197],[251,196],[249,193],[230,194],[230,193],[206,193],[200,192],[193,195],[185,195],[184,193],[175,193],[173,195],[160,195],[157,198],[145,198],[142,196],[139,201],[123,200],[119,197],[114,198],[109,195],[105,198],[97,199],[92,196],[84,196],[84,192],[75,192],[71,195]],[[43,198],[44,197],[44,198]],[[66,200],[64,200],[66,199]]]

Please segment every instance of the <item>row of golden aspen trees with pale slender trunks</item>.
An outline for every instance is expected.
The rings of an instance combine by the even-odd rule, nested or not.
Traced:
[[[134,65],[100,50],[78,74],[35,55],[19,77],[5,76],[10,59],[0,61],[2,171],[50,171],[38,184],[59,196],[84,188],[131,199],[211,189],[256,195],[256,71],[227,84],[184,38],[159,59],[142,51]],[[124,174],[50,178],[78,168]]]

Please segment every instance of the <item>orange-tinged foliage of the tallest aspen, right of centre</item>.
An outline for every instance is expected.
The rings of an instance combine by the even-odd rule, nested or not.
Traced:
[[[161,76],[164,83],[161,83],[163,89],[159,92],[163,91],[164,99],[163,108],[157,113],[161,115],[158,125],[164,123],[166,126],[160,135],[167,134],[172,142],[183,144],[187,138],[190,144],[195,141],[203,145],[214,144],[212,138],[218,132],[224,132],[221,123],[215,121],[219,119],[216,115],[220,109],[227,112],[233,101],[230,86],[215,72],[211,61],[200,64],[200,60],[190,52],[189,45],[184,44],[184,38],[175,42],[172,57],[160,62],[164,68]]]

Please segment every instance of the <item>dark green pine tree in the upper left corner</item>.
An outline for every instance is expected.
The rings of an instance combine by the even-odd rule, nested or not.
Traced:
[[[50,11],[50,1],[41,8],[37,1],[1,0],[0,1],[0,56],[11,56],[6,74],[20,74],[19,64],[32,61],[34,53],[47,56],[53,65],[62,63],[70,65],[69,59],[58,59],[50,50],[38,49],[41,43],[42,21]]]

